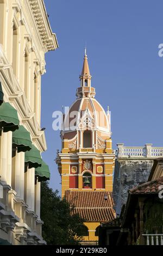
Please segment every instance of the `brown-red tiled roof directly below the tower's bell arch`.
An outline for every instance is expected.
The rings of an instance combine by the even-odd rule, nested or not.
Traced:
[[[106,195],[108,199],[104,199]],[[104,222],[115,218],[114,203],[110,192],[66,190],[65,198],[74,205],[73,213],[78,213],[86,222]]]

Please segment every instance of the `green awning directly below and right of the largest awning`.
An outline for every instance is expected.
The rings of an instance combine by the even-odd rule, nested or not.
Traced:
[[[30,133],[24,128],[23,125],[19,129],[12,132],[12,144],[17,147],[17,152],[26,152],[32,149],[32,141]]]

